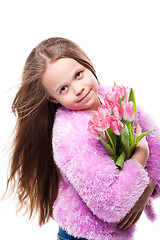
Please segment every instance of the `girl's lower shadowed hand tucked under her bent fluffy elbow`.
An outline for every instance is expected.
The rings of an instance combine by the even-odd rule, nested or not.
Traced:
[[[154,190],[154,183],[150,179],[147,188],[144,190],[142,196],[136,202],[131,211],[117,224],[118,229],[126,230],[130,225],[135,224],[140,218],[147,201]]]

